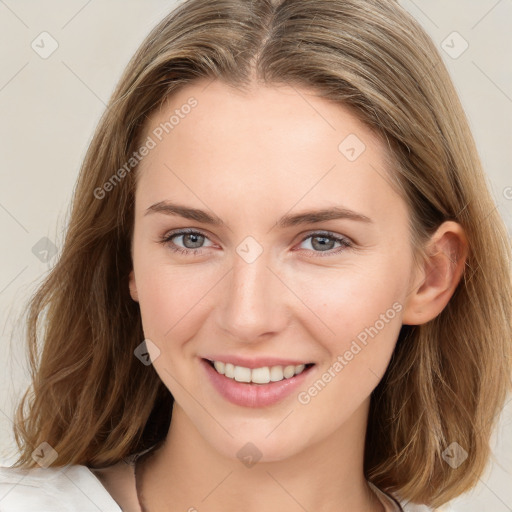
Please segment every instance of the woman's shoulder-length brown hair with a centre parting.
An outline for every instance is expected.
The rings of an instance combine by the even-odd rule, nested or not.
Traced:
[[[167,434],[172,396],[133,353],[144,338],[128,289],[136,168],[105,197],[94,191],[137,150],[148,115],[199,78],[292,84],[352,108],[389,145],[418,254],[443,221],[463,226],[454,295],[432,321],[402,326],[372,394],[364,469],[433,506],[470,489],[511,386],[510,241],[442,59],[391,0],[188,0],[148,35],[87,151],[59,261],[30,302],[33,383],[17,410],[15,466],[35,466],[44,441],[53,465],[105,466]],[[452,441],[468,452],[459,469],[442,459]]]

